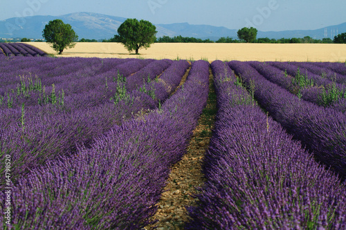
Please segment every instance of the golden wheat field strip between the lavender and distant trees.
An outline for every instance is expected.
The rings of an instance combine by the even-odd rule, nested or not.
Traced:
[[[49,54],[57,54],[46,43],[29,42]],[[140,55],[129,55],[118,43],[77,43],[64,50],[62,57],[116,57],[152,59],[205,59],[214,61],[346,61],[345,44],[152,44]]]

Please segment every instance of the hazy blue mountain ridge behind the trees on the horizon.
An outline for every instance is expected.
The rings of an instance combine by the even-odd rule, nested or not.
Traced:
[[[2,38],[35,38],[42,39],[42,30],[46,23],[53,19],[62,19],[64,23],[71,24],[73,30],[80,39],[110,39],[116,35],[120,24],[126,20],[124,17],[111,15],[102,15],[92,12],[75,12],[67,15],[51,16],[37,15],[26,18],[10,18],[0,21],[0,37]],[[190,23],[170,23],[155,24],[158,34],[156,37],[196,37],[202,39],[216,40],[219,37],[233,37],[237,39],[237,29],[229,29],[224,26],[193,25]],[[269,39],[284,38],[302,38],[312,37],[313,39],[322,39],[325,37],[333,39],[336,31],[346,32],[346,22],[335,26],[327,26],[317,30],[282,30],[282,31],[258,31],[257,37],[268,37]]]

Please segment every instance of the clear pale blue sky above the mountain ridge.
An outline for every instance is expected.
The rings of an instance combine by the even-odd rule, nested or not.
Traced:
[[[346,22],[345,0],[1,0],[0,20],[96,12],[152,23],[314,30]]]

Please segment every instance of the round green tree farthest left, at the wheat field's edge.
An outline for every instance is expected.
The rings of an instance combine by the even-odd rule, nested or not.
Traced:
[[[65,24],[60,19],[49,21],[42,32],[47,43],[51,44],[60,55],[65,48],[73,48],[75,42],[78,41],[78,35],[75,34],[71,25]]]

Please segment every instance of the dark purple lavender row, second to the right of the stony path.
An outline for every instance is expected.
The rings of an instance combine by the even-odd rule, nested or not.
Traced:
[[[331,108],[305,102],[268,82],[248,63],[228,62],[248,86],[260,105],[293,137],[300,140],[322,164],[346,178],[346,115]]]

